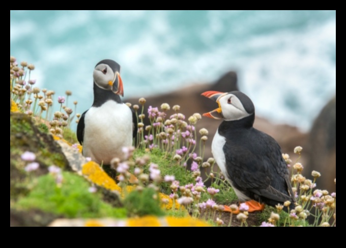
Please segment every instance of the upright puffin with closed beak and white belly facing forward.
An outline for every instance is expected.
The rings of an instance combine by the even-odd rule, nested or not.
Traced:
[[[84,157],[109,165],[113,158],[125,159],[123,147],[130,147],[137,134],[135,112],[122,102],[120,65],[104,59],[94,68],[94,102],[77,125],[77,139]]]

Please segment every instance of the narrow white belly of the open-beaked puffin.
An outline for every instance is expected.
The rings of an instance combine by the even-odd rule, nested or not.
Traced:
[[[242,193],[240,190],[236,189],[233,186],[233,182],[229,178],[229,175],[228,175],[227,170],[226,170],[226,157],[225,157],[225,154],[223,152],[223,146],[225,145],[225,143],[226,143],[226,138],[221,136],[219,134],[219,130],[217,130],[215,133],[215,136],[213,138],[213,143],[212,143],[212,154],[214,156],[214,159],[215,159],[217,165],[219,166],[222,174],[225,176],[225,178],[227,179],[229,184],[234,189],[239,200],[241,200],[241,201],[250,200],[249,197],[247,197],[244,193]]]

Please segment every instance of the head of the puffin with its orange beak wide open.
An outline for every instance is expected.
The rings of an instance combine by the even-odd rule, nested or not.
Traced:
[[[217,120],[236,121],[255,113],[255,107],[251,99],[240,91],[222,93],[218,91],[206,91],[201,95],[206,96],[219,104],[219,108],[203,114],[203,116]]]

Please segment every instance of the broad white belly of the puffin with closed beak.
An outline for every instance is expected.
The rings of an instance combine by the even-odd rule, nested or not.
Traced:
[[[107,101],[84,117],[83,155],[103,164],[123,159],[123,147],[132,145],[132,112],[124,103]]]

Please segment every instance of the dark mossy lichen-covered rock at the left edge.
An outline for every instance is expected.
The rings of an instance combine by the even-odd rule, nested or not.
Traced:
[[[26,114],[10,113],[10,199],[13,200],[28,192],[28,173],[24,170],[27,162],[21,159],[27,151],[34,153],[35,162],[39,163],[31,176],[46,174],[53,164],[69,170],[61,147],[44,128],[36,126]]]

